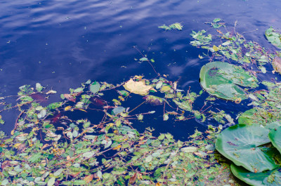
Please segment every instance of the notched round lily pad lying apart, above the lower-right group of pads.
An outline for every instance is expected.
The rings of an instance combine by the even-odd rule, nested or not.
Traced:
[[[246,99],[247,95],[240,86],[254,88],[256,77],[242,67],[227,62],[209,62],[200,70],[200,84],[211,95],[226,100]]]

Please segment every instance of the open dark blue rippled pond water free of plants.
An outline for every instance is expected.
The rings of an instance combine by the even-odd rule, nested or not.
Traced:
[[[214,18],[230,27],[237,20],[237,32],[274,51],[264,31],[281,27],[279,1],[15,0],[1,1],[0,7],[0,96],[16,95],[19,86],[40,82],[58,91],[52,101],[88,79],[112,84],[136,74],[152,79],[152,67],[134,60],[142,58],[138,50],[155,60],[152,65],[157,72],[169,75],[171,81],[179,79],[181,89],[191,86],[199,93],[200,68],[209,61],[200,60],[198,55],[204,51],[189,44],[192,30],[209,29],[204,23]],[[182,31],[158,28],[175,22],[181,22]],[[247,109],[245,104],[224,100],[216,104],[233,114]],[[0,128],[11,131],[17,115],[15,111],[5,113],[6,124]],[[171,132],[177,138],[196,127],[206,125],[195,120],[163,124],[162,119],[154,125],[159,132]]]

